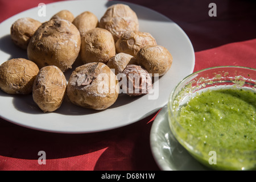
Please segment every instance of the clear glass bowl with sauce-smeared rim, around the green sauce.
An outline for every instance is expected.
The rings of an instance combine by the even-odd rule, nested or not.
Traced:
[[[171,131],[193,157],[210,168],[218,170],[256,169],[256,138],[254,150],[241,150],[236,146],[230,150],[211,145],[202,149],[203,139],[193,136],[179,123],[180,108],[186,105],[196,93],[205,89],[219,88],[242,88],[256,92],[256,69],[233,66],[212,67],[185,77],[172,90],[168,101],[168,121]],[[213,154],[210,155],[210,151],[216,152],[215,164],[209,162],[213,156]]]

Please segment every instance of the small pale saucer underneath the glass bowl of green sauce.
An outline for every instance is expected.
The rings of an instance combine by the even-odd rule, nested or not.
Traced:
[[[150,131],[150,146],[156,163],[163,171],[210,170],[197,162],[171,132],[167,105],[156,115]]]

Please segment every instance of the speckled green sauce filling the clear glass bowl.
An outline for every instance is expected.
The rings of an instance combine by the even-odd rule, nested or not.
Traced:
[[[256,93],[245,89],[206,90],[181,107],[180,125],[200,139],[197,144],[204,151],[207,146],[225,148],[232,162],[238,151],[256,150]],[[196,143],[195,143],[196,144]],[[198,146],[199,145],[199,146]],[[208,154],[209,151],[204,151]],[[218,155],[218,152],[217,152]],[[241,154],[241,161],[247,156]],[[218,163],[218,162],[217,162]]]

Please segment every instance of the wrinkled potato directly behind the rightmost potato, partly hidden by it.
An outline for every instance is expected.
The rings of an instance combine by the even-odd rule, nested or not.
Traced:
[[[126,31],[115,42],[117,53],[125,52],[136,56],[144,46],[156,45],[155,38],[148,32]]]

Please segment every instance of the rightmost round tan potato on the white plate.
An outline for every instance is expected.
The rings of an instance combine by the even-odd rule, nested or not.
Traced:
[[[172,55],[167,48],[159,45],[145,46],[137,53],[137,62],[152,76],[164,75],[172,65]],[[158,75],[155,75],[158,73]]]

